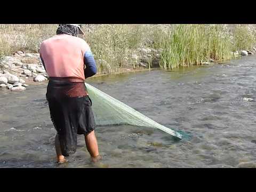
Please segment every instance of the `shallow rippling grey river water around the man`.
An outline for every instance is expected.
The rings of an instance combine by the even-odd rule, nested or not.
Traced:
[[[167,127],[97,128],[102,161],[90,162],[84,138],[69,163],[55,163],[47,83],[0,90],[0,167],[256,167],[256,57],[173,71],[91,78],[87,83]]]

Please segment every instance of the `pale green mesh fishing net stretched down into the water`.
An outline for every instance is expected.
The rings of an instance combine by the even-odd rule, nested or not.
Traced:
[[[165,127],[139,111],[125,105],[123,102],[98,90],[94,86],[85,83],[87,91],[92,99],[92,109],[97,125],[135,125],[151,127],[171,134],[175,138],[182,138],[182,135],[168,127]]]

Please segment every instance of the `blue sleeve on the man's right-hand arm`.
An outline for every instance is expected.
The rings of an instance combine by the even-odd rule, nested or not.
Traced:
[[[91,50],[86,51],[84,54],[84,65],[86,66],[84,70],[85,78],[91,77],[97,73],[97,66]]]

